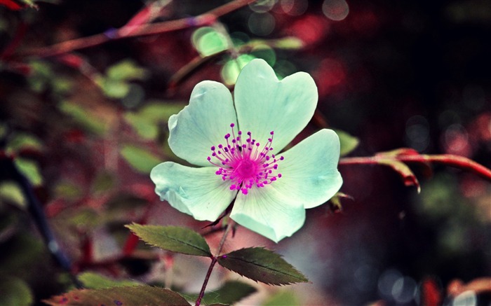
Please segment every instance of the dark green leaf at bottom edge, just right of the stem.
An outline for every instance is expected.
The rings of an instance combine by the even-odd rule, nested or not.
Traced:
[[[245,284],[242,281],[227,281],[222,287],[218,288],[216,291],[206,292],[203,300],[204,304],[224,304],[231,305],[243,298],[255,293],[257,290],[249,284]],[[188,300],[196,300],[198,294],[196,295],[186,295]]]

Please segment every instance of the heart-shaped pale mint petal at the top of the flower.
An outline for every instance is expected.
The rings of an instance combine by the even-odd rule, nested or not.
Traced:
[[[317,105],[314,79],[297,72],[278,81],[264,60],[253,60],[238,76],[234,99],[238,125],[266,144],[274,131],[273,152],[281,151],[314,116]]]

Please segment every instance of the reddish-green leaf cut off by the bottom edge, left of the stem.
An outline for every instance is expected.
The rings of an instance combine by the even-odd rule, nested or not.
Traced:
[[[181,295],[165,288],[152,286],[116,287],[72,290],[43,300],[48,305],[189,305]]]

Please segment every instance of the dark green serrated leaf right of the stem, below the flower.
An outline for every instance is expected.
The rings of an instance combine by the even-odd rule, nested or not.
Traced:
[[[280,255],[262,247],[227,253],[218,258],[218,263],[244,277],[265,284],[285,285],[309,281]]]

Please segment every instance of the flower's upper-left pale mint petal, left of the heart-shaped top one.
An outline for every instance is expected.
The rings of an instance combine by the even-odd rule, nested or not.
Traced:
[[[189,105],[169,118],[169,146],[193,165],[209,166],[211,146],[224,143],[224,135],[237,123],[229,90],[221,83],[203,81],[194,87]]]

